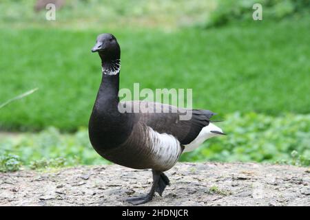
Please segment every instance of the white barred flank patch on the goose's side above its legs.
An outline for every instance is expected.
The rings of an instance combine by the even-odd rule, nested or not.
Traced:
[[[150,142],[152,143],[152,159],[162,170],[169,170],[178,161],[180,157],[181,146],[176,137],[167,133],[158,133],[151,127],[149,129]]]

